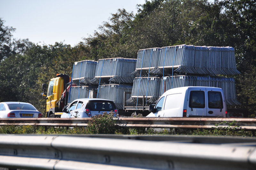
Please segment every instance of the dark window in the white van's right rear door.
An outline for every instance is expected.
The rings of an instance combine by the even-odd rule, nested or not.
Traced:
[[[211,109],[223,109],[222,95],[220,91],[208,91],[208,107]]]

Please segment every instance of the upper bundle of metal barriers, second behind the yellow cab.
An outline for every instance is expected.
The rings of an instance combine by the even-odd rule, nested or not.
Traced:
[[[132,83],[135,76],[131,73],[135,70],[136,61],[136,59],[131,58],[99,59],[92,82],[100,84],[109,81],[124,84]]]

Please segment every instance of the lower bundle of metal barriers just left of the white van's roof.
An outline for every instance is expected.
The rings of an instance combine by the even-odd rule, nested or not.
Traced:
[[[148,104],[154,103],[159,98],[160,88],[159,77],[136,77],[133,81],[131,98],[127,102],[142,104],[145,96]]]

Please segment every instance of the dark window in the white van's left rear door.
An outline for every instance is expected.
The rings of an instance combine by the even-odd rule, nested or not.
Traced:
[[[189,107],[190,108],[205,108],[204,91],[190,91]]]

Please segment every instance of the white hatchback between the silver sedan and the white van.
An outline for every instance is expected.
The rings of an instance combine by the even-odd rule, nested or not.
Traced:
[[[64,107],[61,118],[91,118],[103,112],[113,111],[116,115],[118,111],[116,105],[111,100],[98,98],[76,99],[66,108]]]

